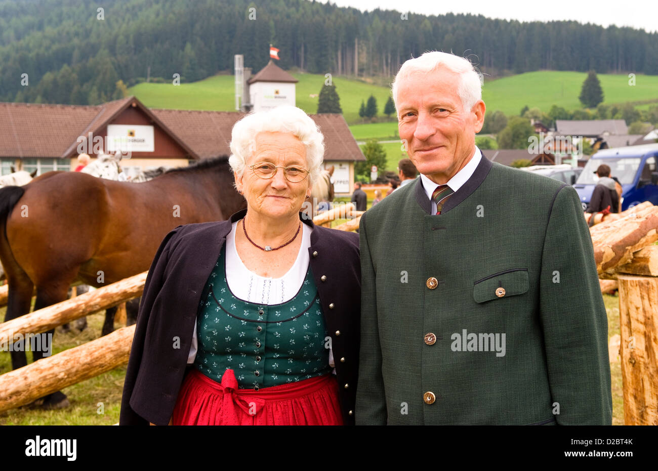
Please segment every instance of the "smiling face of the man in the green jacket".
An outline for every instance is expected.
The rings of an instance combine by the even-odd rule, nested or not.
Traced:
[[[400,139],[418,172],[445,184],[473,155],[484,122],[484,101],[465,111],[459,76],[447,70],[405,78],[397,93]]]

